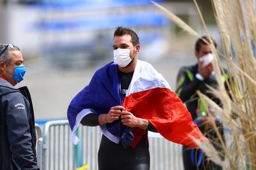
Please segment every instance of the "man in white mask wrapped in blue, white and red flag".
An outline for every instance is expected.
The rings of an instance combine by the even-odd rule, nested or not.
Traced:
[[[102,129],[99,169],[150,169],[148,131],[196,148],[193,136],[207,141],[190,113],[154,67],[138,60],[136,32],[117,27],[113,38],[114,61],[95,72],[68,107],[72,141],[79,124]]]

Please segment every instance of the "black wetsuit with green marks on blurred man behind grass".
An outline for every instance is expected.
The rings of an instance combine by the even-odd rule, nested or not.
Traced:
[[[230,81],[229,74],[225,70],[225,74],[223,75],[223,83],[225,83],[227,80]],[[210,85],[211,87],[216,88],[218,83],[216,81],[215,75],[211,74],[208,78],[205,78],[204,81],[198,80],[196,78],[196,73],[198,73],[198,64],[195,64],[193,66],[189,67],[182,67],[179,71],[178,77],[177,77],[177,95],[180,97],[180,99],[183,101],[183,103],[186,103],[186,106],[188,108],[188,111],[191,113],[191,116],[195,122],[196,118],[198,118],[198,112],[200,113],[200,109],[198,106],[200,105],[200,100],[198,95],[196,94],[196,90],[200,90],[203,94],[210,97],[212,100],[214,100],[217,104],[221,105],[220,100],[216,99],[216,97],[212,96],[211,92],[209,92],[209,88],[205,85]],[[217,126],[219,127],[220,134],[223,136],[223,129],[220,122],[216,122]],[[209,139],[211,139],[213,145],[215,148],[219,151],[221,151],[220,148],[220,140],[217,137],[216,131],[214,129],[205,129],[204,126],[198,125],[200,128],[200,131],[202,131],[205,136]],[[193,170],[193,169],[222,169],[220,166],[214,164],[211,160],[207,159],[204,156],[204,159],[202,160],[202,164],[197,168],[196,162],[191,162],[191,149],[187,146],[183,146],[182,148],[182,154],[183,154],[183,163],[184,163],[184,169],[185,170]],[[195,152],[195,157],[198,159],[198,152]]]

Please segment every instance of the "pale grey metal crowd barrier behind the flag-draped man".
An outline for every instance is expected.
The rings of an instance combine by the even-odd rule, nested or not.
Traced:
[[[73,145],[68,120],[46,122],[38,134],[37,157],[42,170],[98,169],[97,152],[102,133],[99,127],[79,126],[79,145]],[[163,138],[149,136],[150,169],[183,169],[182,146]],[[79,170],[80,170],[79,169]]]

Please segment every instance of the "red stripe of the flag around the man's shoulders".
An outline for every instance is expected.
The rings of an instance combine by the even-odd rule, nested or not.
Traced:
[[[179,97],[170,89],[154,88],[136,92],[125,97],[123,106],[134,116],[145,118],[166,139],[175,143],[196,148],[196,143],[189,137],[204,140],[202,132],[194,124],[191,114]],[[135,147],[145,133],[139,128],[132,128]]]

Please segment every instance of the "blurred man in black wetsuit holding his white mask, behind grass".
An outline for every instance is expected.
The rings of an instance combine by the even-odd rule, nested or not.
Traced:
[[[213,59],[212,50],[211,46],[206,43],[207,41],[208,43],[212,41],[215,48],[217,47],[214,39],[206,36],[203,36],[196,41],[195,57],[198,60],[198,63],[180,68],[177,76],[176,92],[183,103],[186,104],[194,122],[200,127],[200,130],[204,132],[205,136],[210,139],[215,148],[221,152],[220,139],[218,139],[216,131],[213,128],[213,124],[216,124],[220,134],[223,136],[223,128],[220,118],[209,117],[208,114],[211,111],[211,108],[207,106],[207,104],[202,103],[196,94],[196,91],[199,90],[220,105],[220,100],[212,96],[207,87],[207,85],[213,88],[218,86],[211,62]],[[225,70],[225,74],[222,75],[221,80],[223,83],[227,83],[230,79],[230,75]],[[198,152],[198,150],[195,151],[192,148],[183,146],[182,154],[185,170],[222,169],[220,166],[207,159],[202,151]]]

